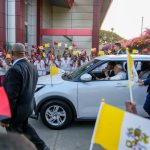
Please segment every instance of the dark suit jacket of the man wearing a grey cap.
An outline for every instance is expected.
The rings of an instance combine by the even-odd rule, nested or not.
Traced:
[[[26,59],[19,60],[9,69],[4,80],[12,112],[9,122],[21,124],[32,114],[37,80],[37,69]]]

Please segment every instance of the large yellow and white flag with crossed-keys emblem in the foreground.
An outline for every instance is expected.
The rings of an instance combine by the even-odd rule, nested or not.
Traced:
[[[149,150],[149,127],[148,119],[102,103],[90,150]]]

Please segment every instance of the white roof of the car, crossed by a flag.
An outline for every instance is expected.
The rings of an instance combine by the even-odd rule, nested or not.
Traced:
[[[133,60],[150,61],[150,55],[131,55]],[[96,60],[127,60],[127,55],[104,55],[94,58]]]

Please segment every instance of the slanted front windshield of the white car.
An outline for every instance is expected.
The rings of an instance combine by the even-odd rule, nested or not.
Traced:
[[[91,60],[90,62],[88,62],[87,64],[80,66],[78,69],[74,70],[70,76],[71,78],[76,78],[78,75],[80,75],[82,72],[84,72],[85,70],[87,70],[90,66],[93,66],[94,64],[96,64],[99,60]]]

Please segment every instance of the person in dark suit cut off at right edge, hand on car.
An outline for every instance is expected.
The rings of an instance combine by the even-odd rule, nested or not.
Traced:
[[[145,85],[145,86],[148,85],[148,88],[147,88],[148,94],[147,94],[146,101],[145,101],[143,108],[150,116],[150,75],[148,76],[146,80],[139,80],[138,82],[140,85]]]

